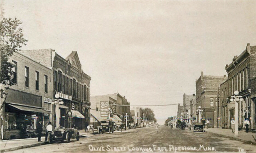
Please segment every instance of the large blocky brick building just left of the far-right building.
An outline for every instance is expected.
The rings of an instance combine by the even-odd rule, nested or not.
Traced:
[[[217,127],[217,106],[218,106],[218,88],[227,77],[217,77],[212,75],[203,75],[196,80],[196,108],[199,106],[203,112],[201,117],[205,117],[210,121],[209,127]],[[199,121],[199,113],[197,113],[197,121]]]

